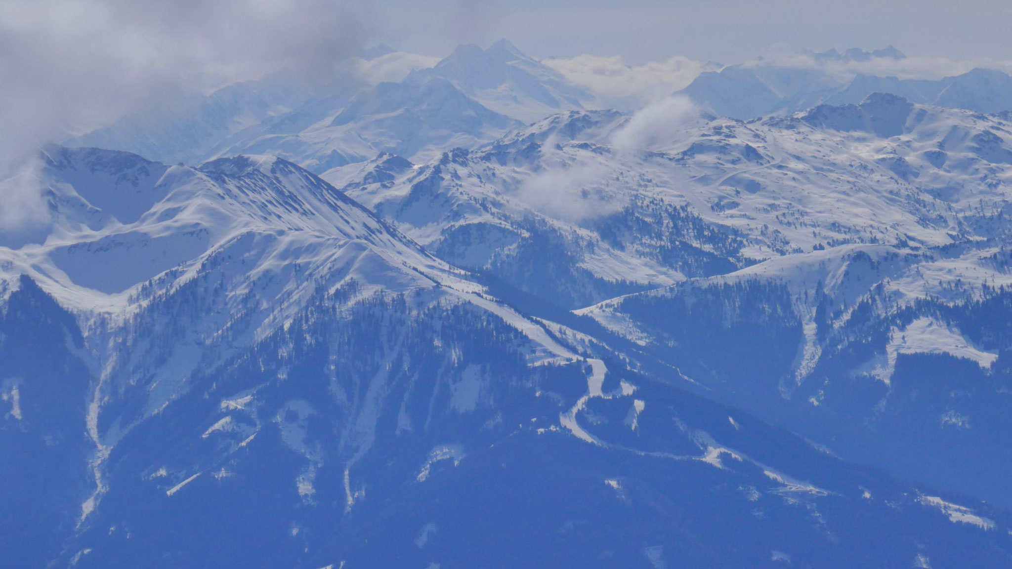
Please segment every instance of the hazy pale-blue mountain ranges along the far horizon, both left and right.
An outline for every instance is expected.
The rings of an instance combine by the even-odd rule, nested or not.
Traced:
[[[416,65],[416,57],[386,46],[359,56],[372,65],[377,60],[400,62],[394,66],[398,69]],[[876,92],[984,113],[1012,110],[1012,78],[1001,71],[975,69],[929,81],[879,77],[847,67],[903,60],[906,56],[893,47],[803,52],[798,57],[804,65],[759,59],[703,72],[679,93],[709,112],[741,119],[818,104],[856,104]],[[453,148],[477,148],[553,113],[599,108],[593,93],[568,84],[505,39],[487,50],[460,46],[433,67],[397,81],[371,84],[368,75],[349,72],[329,84],[313,84],[277,73],[207,96],[194,94],[64,144],[191,165],[266,153],[322,173],[380,152],[431,158]]]

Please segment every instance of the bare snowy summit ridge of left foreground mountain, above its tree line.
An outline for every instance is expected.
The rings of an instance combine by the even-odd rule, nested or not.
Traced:
[[[46,234],[0,248],[0,265],[44,282],[67,306],[123,302],[120,293],[223,250],[236,254],[237,247],[259,258],[248,270],[336,254],[354,243],[417,270],[444,270],[371,212],[279,158],[237,156],[192,168],[51,147],[36,177],[49,202]],[[402,171],[405,163],[389,156],[383,164]],[[388,280],[368,271],[359,276]]]

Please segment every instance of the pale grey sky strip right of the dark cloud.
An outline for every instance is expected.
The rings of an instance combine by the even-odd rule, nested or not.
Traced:
[[[1012,59],[1006,0],[385,1],[380,35],[442,55],[507,37],[538,57],[686,56],[737,63],[774,45],[824,51],[894,45],[911,56]],[[396,45],[395,45],[396,44]]]

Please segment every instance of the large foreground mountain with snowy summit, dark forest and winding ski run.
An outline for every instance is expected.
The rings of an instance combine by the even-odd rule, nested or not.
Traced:
[[[0,248],[18,566],[1009,561],[1004,510],[630,368],[289,162],[34,176],[49,220]]]

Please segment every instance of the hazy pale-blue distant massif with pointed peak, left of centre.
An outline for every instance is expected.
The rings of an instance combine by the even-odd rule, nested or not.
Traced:
[[[360,56],[326,84],[278,73],[66,144],[188,164],[270,154],[320,173],[380,152],[427,159],[473,148],[593,99],[505,39],[460,46],[434,67],[383,46]]]

